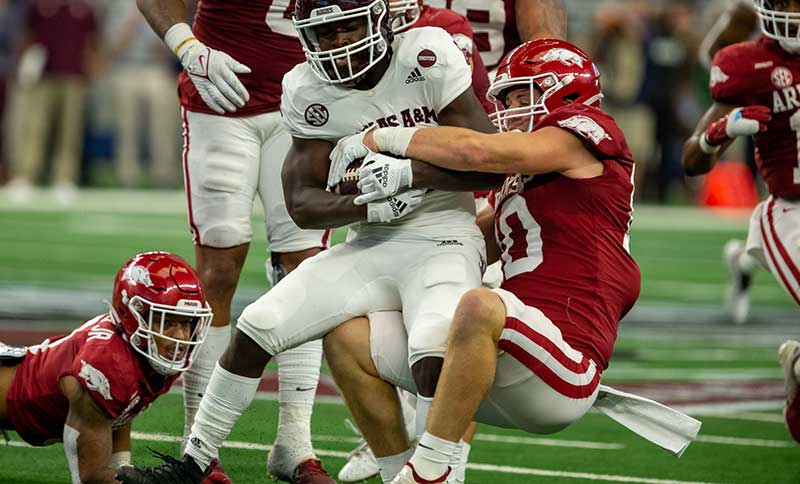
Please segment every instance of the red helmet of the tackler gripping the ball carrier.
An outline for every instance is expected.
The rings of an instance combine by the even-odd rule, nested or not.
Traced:
[[[508,108],[506,95],[515,88],[528,88],[530,105]],[[558,39],[526,42],[500,61],[486,97],[495,105],[490,117],[500,131],[509,131],[509,121],[528,119],[528,131],[556,108],[569,103],[599,106],[600,71],[586,53]]]

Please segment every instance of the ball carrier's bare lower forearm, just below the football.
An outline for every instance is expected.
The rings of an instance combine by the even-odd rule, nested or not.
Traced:
[[[333,229],[367,219],[367,206],[355,205],[352,195],[311,187],[286,195],[289,215],[301,229]]]

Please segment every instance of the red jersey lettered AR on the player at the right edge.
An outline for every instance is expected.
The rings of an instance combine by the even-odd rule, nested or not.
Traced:
[[[800,55],[765,36],[717,52],[711,96],[735,106],[772,109],[767,130],[753,137],[756,164],[771,194],[800,198]]]

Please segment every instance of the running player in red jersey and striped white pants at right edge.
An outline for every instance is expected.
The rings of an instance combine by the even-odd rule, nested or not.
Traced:
[[[800,304],[800,1],[755,0],[762,35],[728,46],[714,57],[710,89],[714,104],[686,141],[683,167],[708,173],[739,136],[752,136],[756,164],[769,197],[750,218],[747,241],[731,240],[724,254],[731,285],[727,302],[734,320],[749,308],[750,277],[768,269]],[[796,342],[781,354],[786,369],[787,424],[800,436]]]

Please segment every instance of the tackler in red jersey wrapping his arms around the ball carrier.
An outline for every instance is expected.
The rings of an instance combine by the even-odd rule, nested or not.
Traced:
[[[395,483],[445,482],[473,418],[533,433],[578,420],[597,398],[619,320],[639,295],[628,236],[634,163],[623,133],[598,109],[594,63],[564,41],[529,42],[504,59],[489,94],[502,133],[381,128],[364,137],[373,151],[450,170],[511,173],[495,193],[493,230],[482,227],[495,234],[487,254],[502,260],[503,283],[461,298],[426,432]],[[369,195],[359,202],[390,196],[397,180],[413,185],[413,163],[383,158],[362,168]],[[326,351],[343,328],[328,335]],[[387,375],[403,372],[403,355],[396,361]],[[375,363],[383,376],[386,362]]]

